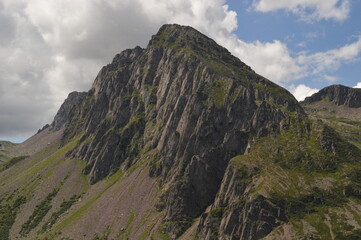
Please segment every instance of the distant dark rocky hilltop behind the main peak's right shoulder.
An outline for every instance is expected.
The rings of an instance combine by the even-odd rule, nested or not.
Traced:
[[[307,97],[303,103],[309,104],[322,100],[328,100],[338,106],[345,105],[351,108],[359,108],[361,107],[361,89],[332,85],[321,89],[311,97]]]

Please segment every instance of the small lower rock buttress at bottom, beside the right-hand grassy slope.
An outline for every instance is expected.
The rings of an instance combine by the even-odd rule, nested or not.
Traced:
[[[252,178],[259,171],[257,167],[227,168],[214,203],[199,221],[199,239],[261,239],[288,221],[280,206],[250,194]]]

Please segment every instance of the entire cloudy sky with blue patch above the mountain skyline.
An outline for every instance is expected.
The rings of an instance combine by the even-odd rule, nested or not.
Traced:
[[[21,142],[116,53],[190,25],[298,100],[361,87],[359,0],[0,0],[0,139]]]

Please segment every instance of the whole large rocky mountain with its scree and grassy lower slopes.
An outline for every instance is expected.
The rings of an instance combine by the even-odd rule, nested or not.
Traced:
[[[117,54],[9,156],[0,239],[361,238],[359,146],[191,27]]]

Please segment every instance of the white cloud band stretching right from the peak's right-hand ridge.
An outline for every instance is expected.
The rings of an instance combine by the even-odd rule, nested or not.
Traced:
[[[339,48],[312,54],[299,52],[296,56],[286,44],[277,40],[244,42],[231,34],[217,40],[257,73],[278,84],[310,76],[335,82],[338,78],[329,73],[337,71],[343,64],[356,61],[361,54],[361,36],[355,42]]]

